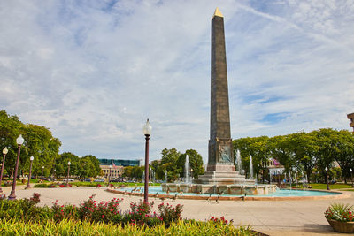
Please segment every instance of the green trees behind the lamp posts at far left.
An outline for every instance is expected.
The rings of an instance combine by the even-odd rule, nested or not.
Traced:
[[[96,177],[100,173],[96,156],[75,156],[72,153],[59,154],[61,142],[53,137],[50,129],[34,124],[24,124],[19,117],[0,110],[0,148],[8,148],[5,157],[4,175],[12,175],[17,158],[16,139],[22,134],[24,143],[19,156],[19,175],[29,171],[30,156],[34,156],[32,173],[34,176],[65,177],[67,163],[70,160],[70,173],[78,177]],[[44,166],[44,168],[42,168]]]

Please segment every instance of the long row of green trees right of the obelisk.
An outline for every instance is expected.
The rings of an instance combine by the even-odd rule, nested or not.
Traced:
[[[309,181],[318,175],[325,182],[326,167],[334,175],[335,166],[339,165],[339,175],[347,182],[350,168],[354,170],[354,135],[347,130],[323,128],[271,138],[247,137],[237,139],[233,144],[234,149],[240,151],[242,169],[246,173],[250,171],[252,156],[253,170],[258,180],[261,178],[264,181],[269,176],[267,164],[271,158],[280,162],[286,173],[304,172]]]

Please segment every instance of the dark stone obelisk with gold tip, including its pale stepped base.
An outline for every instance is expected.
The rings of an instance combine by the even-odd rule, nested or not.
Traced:
[[[196,184],[251,182],[235,171],[228,108],[227,57],[224,17],[216,8],[212,16],[211,123],[208,166]]]

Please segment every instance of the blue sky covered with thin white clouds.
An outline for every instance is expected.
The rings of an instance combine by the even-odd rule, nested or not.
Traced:
[[[232,138],[331,127],[354,112],[354,1],[0,0],[0,110],[60,152],[207,160],[211,19],[224,15]]]

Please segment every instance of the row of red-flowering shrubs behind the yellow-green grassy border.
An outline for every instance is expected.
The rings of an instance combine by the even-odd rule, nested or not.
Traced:
[[[131,202],[130,210],[121,212],[119,204],[122,199],[113,198],[110,202],[96,202],[89,197],[88,201],[80,206],[58,205],[58,201],[52,202],[51,208],[37,207],[40,202],[39,194],[34,194],[30,199],[15,201],[0,200],[0,220],[18,219],[22,221],[32,220],[54,220],[61,222],[64,220],[89,221],[115,223],[121,225],[146,225],[155,226],[164,224],[169,226],[171,221],[177,221],[181,217],[181,205],[173,208],[170,205],[158,207],[159,213],[151,214],[152,204],[144,202]]]

